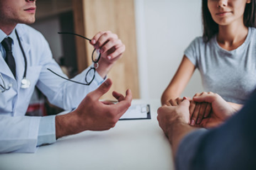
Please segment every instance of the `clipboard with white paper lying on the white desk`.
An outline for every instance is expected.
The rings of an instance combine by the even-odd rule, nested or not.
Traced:
[[[150,105],[131,105],[119,120],[151,119]]]

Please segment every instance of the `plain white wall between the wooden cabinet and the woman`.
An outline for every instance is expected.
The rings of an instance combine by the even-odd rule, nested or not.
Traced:
[[[201,0],[135,0],[141,98],[160,98],[184,50],[202,35]],[[202,91],[196,70],[182,96]]]

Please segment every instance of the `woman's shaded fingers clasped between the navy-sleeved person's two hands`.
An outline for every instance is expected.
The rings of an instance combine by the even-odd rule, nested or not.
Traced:
[[[194,97],[202,96],[206,94],[214,94],[214,93],[201,92],[201,93],[196,93]],[[189,112],[190,112],[190,125],[200,124],[202,122],[202,119],[209,116],[211,112],[211,104],[207,102],[196,102],[194,100],[191,100]]]

